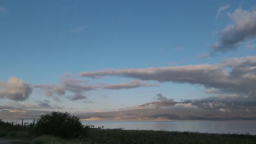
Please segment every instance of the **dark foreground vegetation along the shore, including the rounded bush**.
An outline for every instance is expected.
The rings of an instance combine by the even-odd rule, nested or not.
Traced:
[[[256,143],[254,135],[202,134],[178,131],[91,128],[68,113],[54,112],[37,124],[0,121],[0,139],[23,139],[28,144],[82,143]],[[70,135],[67,135],[67,132]]]

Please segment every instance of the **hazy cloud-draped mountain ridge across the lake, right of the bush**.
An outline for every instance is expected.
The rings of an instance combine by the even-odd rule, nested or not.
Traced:
[[[87,120],[256,120],[256,103],[155,101],[126,111],[78,115]]]

